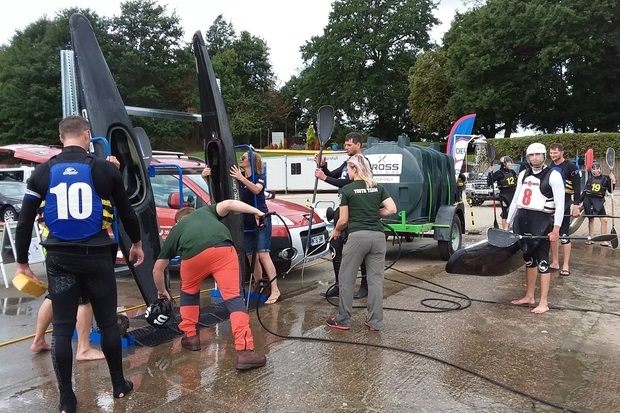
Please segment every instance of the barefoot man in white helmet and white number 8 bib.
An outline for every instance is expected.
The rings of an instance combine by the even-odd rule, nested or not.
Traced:
[[[527,289],[525,296],[513,300],[512,304],[535,304],[536,279],[540,273],[540,301],[532,309],[534,314],[549,311],[549,244],[558,241],[564,218],[564,182],[558,171],[545,165],[546,152],[542,143],[528,146],[529,167],[519,174],[507,219],[509,227],[517,234],[548,236],[548,239],[524,237],[519,240],[525,260]]]

